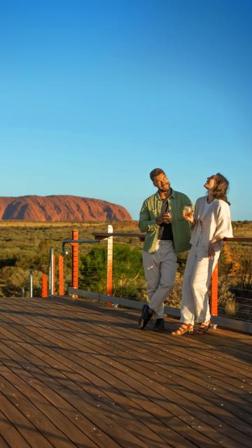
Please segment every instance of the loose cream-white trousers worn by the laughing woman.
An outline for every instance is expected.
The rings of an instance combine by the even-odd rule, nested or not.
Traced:
[[[181,322],[194,325],[195,322],[210,320],[207,290],[220,253],[221,251],[216,251],[214,260],[209,260],[205,247],[190,248],[183,275]]]

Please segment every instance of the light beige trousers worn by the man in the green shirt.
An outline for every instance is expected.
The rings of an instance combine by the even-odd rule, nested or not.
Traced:
[[[174,286],[176,276],[176,253],[173,241],[158,240],[154,253],[143,252],[144,274],[150,308],[156,318],[164,315],[164,301]]]

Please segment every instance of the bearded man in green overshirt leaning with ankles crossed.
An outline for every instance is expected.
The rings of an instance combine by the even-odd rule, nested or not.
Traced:
[[[160,331],[165,328],[164,301],[174,286],[177,253],[190,249],[190,225],[182,211],[192,204],[186,195],[171,188],[162,169],[153,169],[150,177],[158,191],[144,201],[139,229],[146,232],[143,263],[151,302],[142,309],[139,328],[144,330],[155,314],[153,330]]]

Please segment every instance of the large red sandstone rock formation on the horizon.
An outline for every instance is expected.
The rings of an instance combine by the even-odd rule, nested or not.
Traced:
[[[132,221],[128,211],[100,199],[71,195],[0,197],[0,221]]]

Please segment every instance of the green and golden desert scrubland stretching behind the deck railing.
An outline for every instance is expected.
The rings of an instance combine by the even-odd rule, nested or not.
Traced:
[[[78,229],[80,239],[106,232],[107,223],[0,223],[0,296],[29,295],[29,269],[34,274],[34,295],[41,295],[41,275],[48,273],[48,253],[61,254],[62,241]],[[114,232],[139,233],[137,222],[113,223]],[[252,223],[233,223],[236,236],[252,237]],[[67,248],[67,246],[66,246]],[[142,243],[137,238],[114,239],[113,294],[148,300],[141,262]],[[80,244],[80,288],[106,293],[106,240],[99,245]],[[169,305],[179,307],[186,254],[178,262],[176,284]],[[65,290],[71,284],[71,247],[64,258]],[[219,262],[220,311],[252,320],[252,245],[225,244]],[[57,288],[57,283],[56,283]]]

